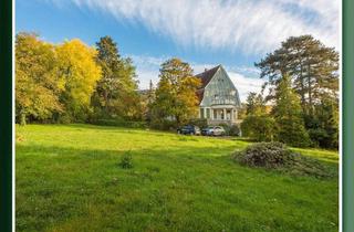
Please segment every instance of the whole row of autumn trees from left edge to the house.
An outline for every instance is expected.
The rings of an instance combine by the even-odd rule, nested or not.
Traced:
[[[160,66],[156,87],[138,91],[135,66],[110,36],[95,48],[33,33],[15,38],[15,120],[175,128],[198,116],[200,82],[179,59]]]

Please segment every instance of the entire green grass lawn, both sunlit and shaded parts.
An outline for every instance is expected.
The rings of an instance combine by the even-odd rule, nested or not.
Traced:
[[[242,167],[247,141],[88,125],[17,127],[17,231],[337,231],[337,177]],[[296,149],[336,169],[337,152]],[[132,169],[122,169],[129,151]]]

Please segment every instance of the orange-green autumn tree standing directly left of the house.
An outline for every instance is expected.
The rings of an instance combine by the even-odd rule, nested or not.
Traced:
[[[155,119],[174,118],[177,125],[198,114],[197,88],[200,80],[192,75],[188,63],[170,59],[162,64],[159,82],[155,92]]]

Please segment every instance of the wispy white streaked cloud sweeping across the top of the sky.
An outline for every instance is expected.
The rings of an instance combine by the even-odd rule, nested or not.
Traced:
[[[48,0],[46,0],[48,1]],[[60,2],[59,0],[52,0]],[[340,0],[65,0],[140,23],[183,46],[263,54],[290,35],[339,45]]]

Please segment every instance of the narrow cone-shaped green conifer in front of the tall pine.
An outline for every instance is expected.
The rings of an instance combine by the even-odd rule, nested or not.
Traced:
[[[291,146],[310,145],[309,134],[304,127],[302,109],[298,95],[291,88],[290,77],[284,75],[275,88],[275,105],[272,116],[277,125],[277,139]]]

